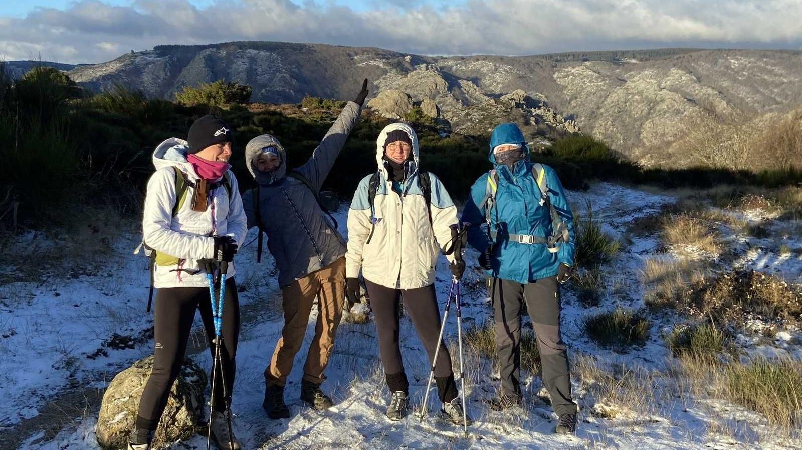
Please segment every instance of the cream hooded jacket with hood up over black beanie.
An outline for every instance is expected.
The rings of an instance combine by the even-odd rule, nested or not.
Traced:
[[[384,165],[384,141],[393,130],[407,132],[413,160],[406,164],[403,192],[392,189]],[[451,243],[451,225],[457,223],[456,206],[444,185],[431,172],[431,225],[428,205],[418,180],[418,137],[407,124],[390,124],[376,140],[379,189],[371,210],[368,191],[371,175],[358,184],[348,211],[346,277],[363,277],[394,289],[418,289],[435,282],[435,261]],[[374,226],[371,226],[374,222]],[[371,234],[372,233],[372,234]],[[370,239],[369,239],[370,238]],[[453,261],[453,256],[448,256]]]

